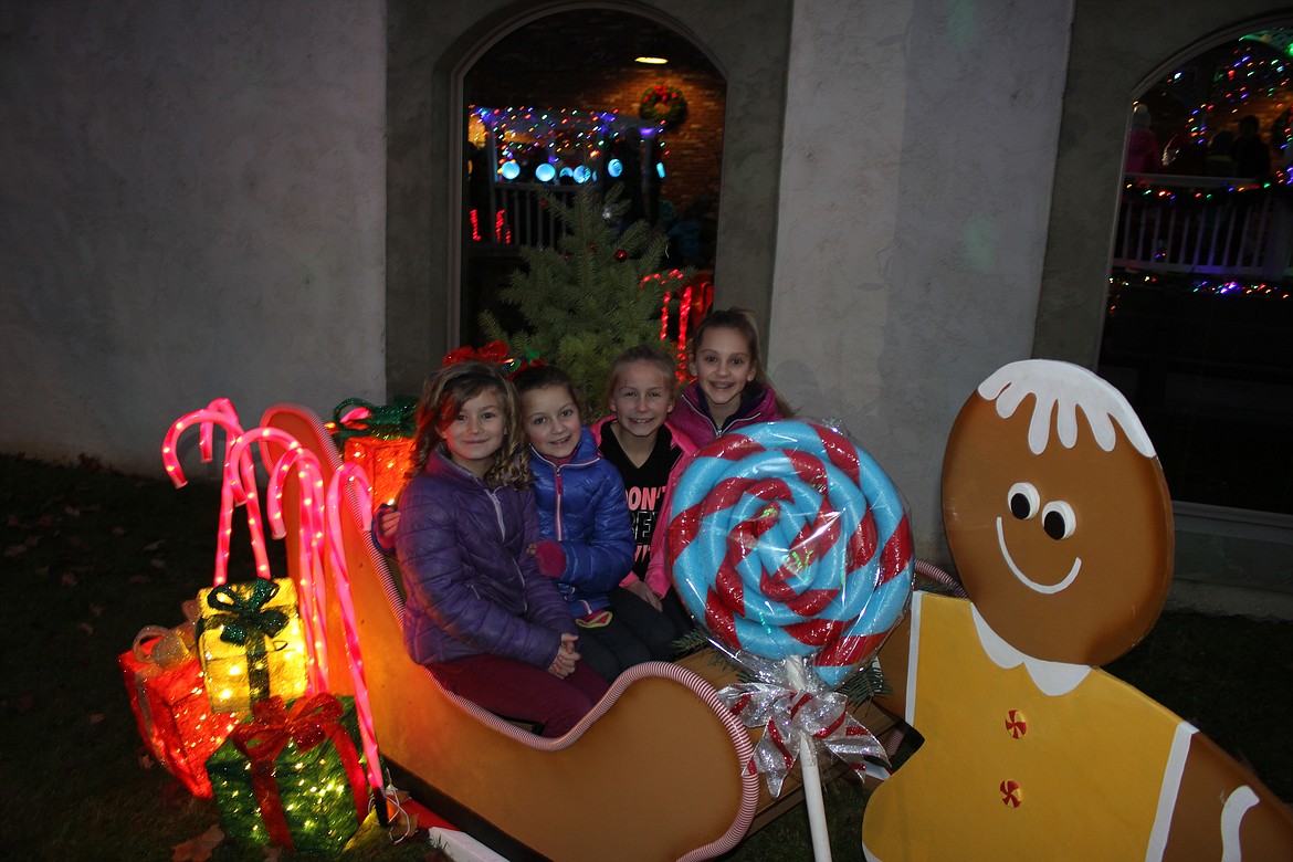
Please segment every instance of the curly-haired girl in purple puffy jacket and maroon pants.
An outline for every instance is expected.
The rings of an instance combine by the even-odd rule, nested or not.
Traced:
[[[565,734],[606,684],[579,660],[570,609],[529,552],[526,439],[497,367],[463,362],[428,383],[414,464],[396,529],[409,654],[455,694]]]

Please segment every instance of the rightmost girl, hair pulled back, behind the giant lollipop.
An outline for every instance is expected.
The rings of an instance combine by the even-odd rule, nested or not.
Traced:
[[[745,309],[720,309],[701,321],[692,341],[690,372],[696,380],[683,390],[668,423],[693,448],[734,428],[794,415],[772,388],[759,350],[759,327]]]

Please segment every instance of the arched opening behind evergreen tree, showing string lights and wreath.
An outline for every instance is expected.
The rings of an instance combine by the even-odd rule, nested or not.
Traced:
[[[685,35],[623,9],[556,12],[485,48],[463,72],[462,100],[463,344],[482,340],[481,310],[506,315],[498,295],[521,249],[556,243],[539,189],[569,199],[581,185],[618,185],[626,224],[659,233],[701,202],[710,230],[689,262],[712,269],[727,81]]]

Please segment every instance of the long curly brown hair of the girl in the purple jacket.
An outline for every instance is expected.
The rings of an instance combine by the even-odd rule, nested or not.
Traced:
[[[441,368],[427,380],[418,406],[418,439],[410,478],[425,469],[432,450],[445,441],[443,429],[463,405],[487,390],[498,393],[503,402],[503,445],[485,470],[485,483],[495,489],[529,486],[534,474],[530,473],[528,445],[521,428],[520,397],[498,366],[484,362],[458,362]]]

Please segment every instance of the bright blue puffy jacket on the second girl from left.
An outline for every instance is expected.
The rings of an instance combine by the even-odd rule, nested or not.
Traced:
[[[569,461],[557,467],[531,448],[530,469],[540,534],[566,557],[561,594],[575,616],[606,607],[606,593],[634,567],[634,527],[619,470],[597,454],[587,428]]]

